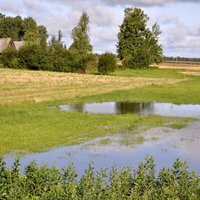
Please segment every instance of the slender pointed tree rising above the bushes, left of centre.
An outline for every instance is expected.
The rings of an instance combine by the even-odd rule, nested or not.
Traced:
[[[92,45],[88,36],[89,30],[89,16],[86,12],[83,12],[78,25],[72,30],[73,43],[70,50],[78,51],[81,54],[92,52]]]

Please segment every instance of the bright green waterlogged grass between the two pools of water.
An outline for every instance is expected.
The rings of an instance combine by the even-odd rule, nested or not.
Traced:
[[[80,144],[115,133],[138,132],[172,123],[174,118],[140,115],[93,115],[51,109],[45,103],[4,107],[0,110],[0,153],[44,151]]]

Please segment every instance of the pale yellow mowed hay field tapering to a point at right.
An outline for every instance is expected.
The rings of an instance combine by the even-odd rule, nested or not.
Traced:
[[[103,94],[184,79],[138,78],[0,69],[0,106]]]

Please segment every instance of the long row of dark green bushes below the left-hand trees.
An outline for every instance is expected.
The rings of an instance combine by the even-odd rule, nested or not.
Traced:
[[[42,47],[26,44],[19,51],[11,48],[5,50],[2,63],[15,69],[86,73],[96,67],[96,56],[92,53],[69,51],[59,45]]]

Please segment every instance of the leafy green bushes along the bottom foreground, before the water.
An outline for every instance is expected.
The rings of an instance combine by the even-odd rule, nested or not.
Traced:
[[[200,199],[200,177],[189,172],[185,162],[177,159],[172,169],[155,173],[152,157],[140,163],[137,171],[130,167],[113,167],[95,172],[89,165],[79,179],[73,165],[57,168],[37,166],[34,162],[20,174],[19,160],[11,169],[0,159],[0,199]]]

